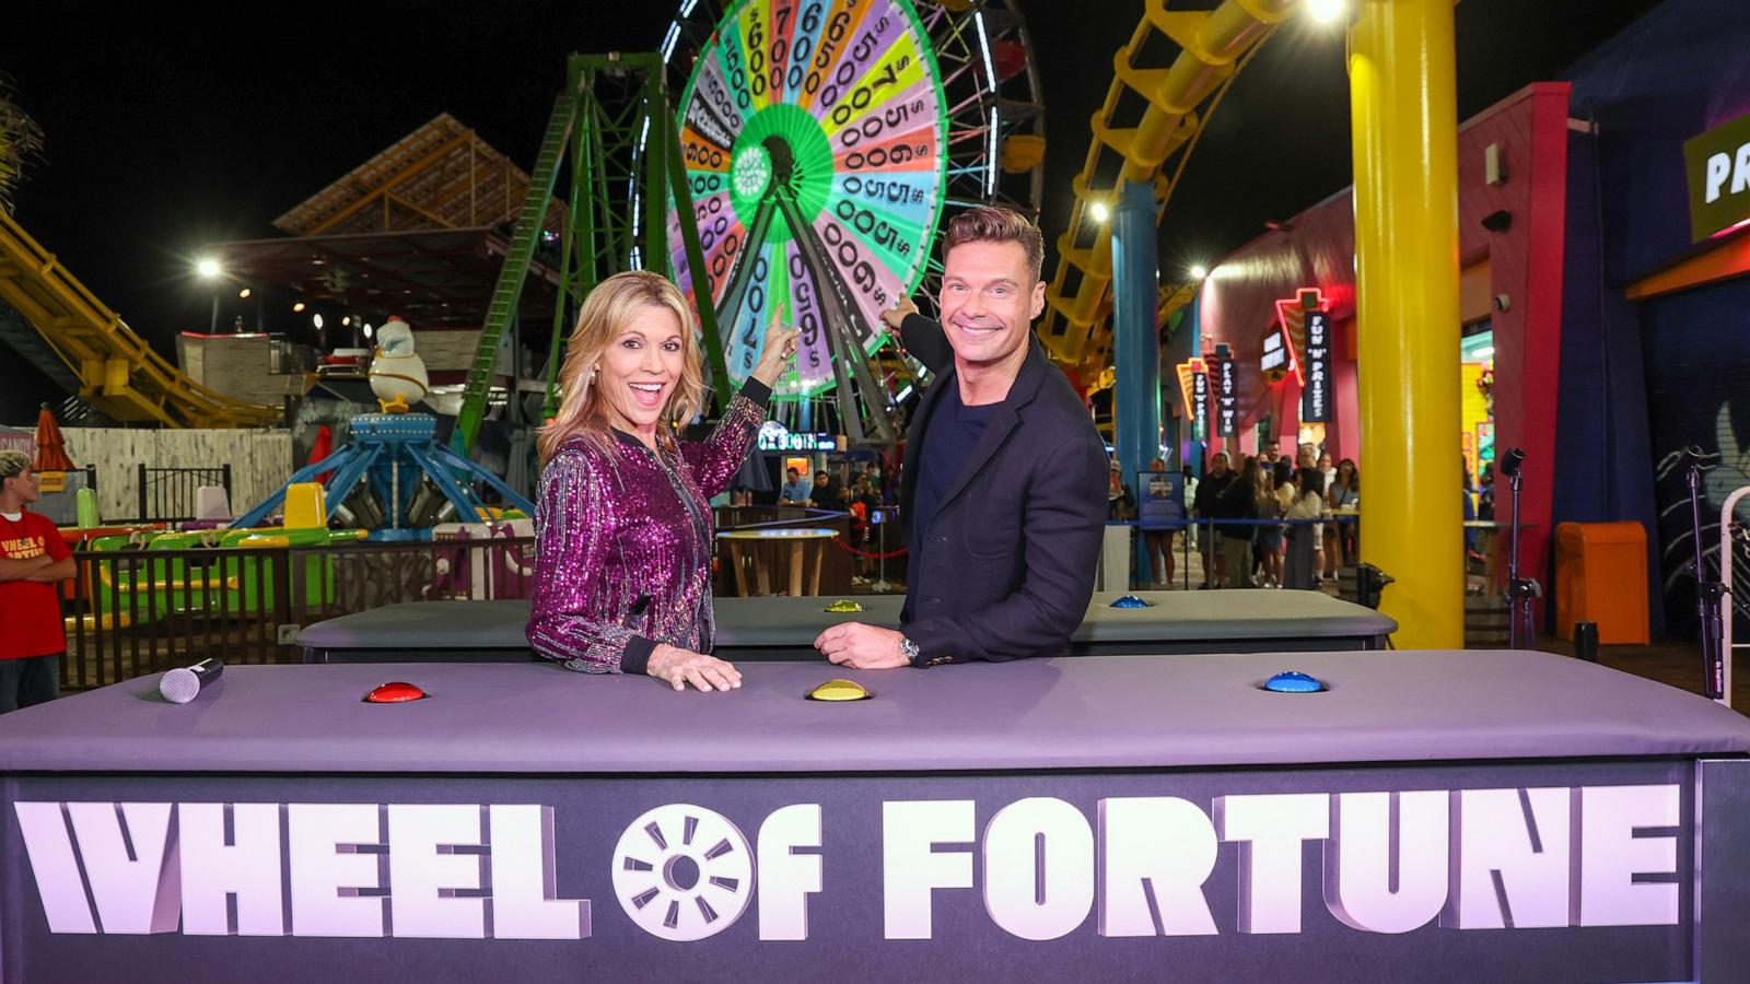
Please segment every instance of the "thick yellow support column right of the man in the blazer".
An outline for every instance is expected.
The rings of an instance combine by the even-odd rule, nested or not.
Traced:
[[[1362,0],[1349,32],[1362,559],[1400,650],[1465,644],[1452,0]]]

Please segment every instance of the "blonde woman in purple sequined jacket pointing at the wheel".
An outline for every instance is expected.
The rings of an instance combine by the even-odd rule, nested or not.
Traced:
[[[796,350],[774,324],[742,392],[705,441],[674,425],[704,401],[693,317],[665,277],[632,271],[590,291],[542,427],[528,644],[565,669],[648,672],[676,690],[740,686],[710,651],[712,515]]]

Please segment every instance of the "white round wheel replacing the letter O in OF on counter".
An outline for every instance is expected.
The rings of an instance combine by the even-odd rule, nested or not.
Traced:
[[[690,942],[721,933],[752,896],[752,847],[716,811],[662,805],[614,844],[614,898],[653,937]]]

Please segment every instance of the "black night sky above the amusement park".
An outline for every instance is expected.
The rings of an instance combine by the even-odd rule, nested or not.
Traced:
[[[1460,119],[1558,77],[1656,5],[1463,0]],[[172,359],[175,333],[208,326],[212,294],[189,273],[201,245],[280,235],[276,215],[441,112],[527,168],[565,56],[651,51],[674,12],[667,0],[262,4],[180,16],[152,4],[56,4],[52,18],[40,12],[49,5],[19,7],[9,5],[0,33],[0,72],[47,145],[16,191],[16,219]],[[1046,100],[1052,243],[1087,156],[1087,119],[1143,4],[1020,9]],[[1162,222],[1162,270],[1220,259],[1265,221],[1349,184],[1348,123],[1340,35],[1302,23],[1278,32],[1185,172]],[[30,424],[38,401],[60,399],[10,348],[0,366],[0,424]]]

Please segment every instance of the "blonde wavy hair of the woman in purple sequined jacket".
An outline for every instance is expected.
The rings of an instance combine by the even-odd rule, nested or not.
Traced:
[[[541,436],[536,439],[542,466],[574,436],[583,436],[600,448],[614,446],[607,439],[607,401],[595,390],[595,369],[607,347],[644,308],[663,308],[681,326],[681,382],[663,408],[663,427],[658,432],[665,434],[677,422],[691,420],[704,406],[705,373],[700,368],[698,336],[693,331],[693,312],[681,289],[667,277],[648,270],[616,273],[597,284],[584,298],[578,327],[565,343],[565,364],[558,373],[558,415],[541,427]]]

